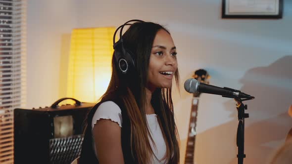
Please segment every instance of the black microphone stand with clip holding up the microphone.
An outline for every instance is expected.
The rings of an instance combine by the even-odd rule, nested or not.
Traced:
[[[239,90],[235,90],[232,88],[224,87],[225,89],[238,92]],[[246,157],[244,154],[244,119],[249,117],[248,113],[244,113],[244,110],[247,110],[247,105],[243,104],[243,101],[245,100],[251,100],[254,99],[253,96],[250,96],[250,98],[239,98],[236,96],[224,96],[222,97],[229,97],[229,98],[234,98],[237,100],[240,104],[237,106],[237,112],[238,112],[238,127],[237,127],[237,137],[236,137],[236,144],[238,147],[238,164],[243,164],[243,158]]]

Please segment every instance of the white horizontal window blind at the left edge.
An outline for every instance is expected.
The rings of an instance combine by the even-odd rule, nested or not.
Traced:
[[[26,0],[0,0],[0,164],[13,164],[13,109],[26,102]]]

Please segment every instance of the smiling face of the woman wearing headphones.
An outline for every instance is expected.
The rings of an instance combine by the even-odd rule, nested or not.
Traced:
[[[153,41],[148,68],[147,88],[154,91],[157,87],[171,88],[177,70],[176,47],[165,30],[159,30]]]

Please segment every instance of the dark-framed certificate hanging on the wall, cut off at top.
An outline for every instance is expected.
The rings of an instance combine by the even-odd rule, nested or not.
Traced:
[[[222,0],[222,18],[280,19],[283,0]]]

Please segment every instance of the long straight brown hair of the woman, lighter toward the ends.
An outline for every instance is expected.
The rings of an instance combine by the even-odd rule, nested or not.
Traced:
[[[153,156],[148,136],[151,142],[154,142],[147,126],[145,112],[146,82],[152,44],[156,33],[161,29],[168,32],[161,25],[152,22],[137,22],[129,27],[122,38],[124,47],[133,52],[135,69],[130,70],[127,75],[120,74],[113,55],[111,80],[100,98],[103,102],[109,99],[109,95],[114,94],[123,100],[131,124],[131,153],[139,164],[149,164]],[[175,72],[175,81],[178,87],[178,70]],[[178,164],[179,137],[174,121],[171,88],[157,88],[152,94],[151,105],[158,116],[165,140],[165,159],[170,164]]]

